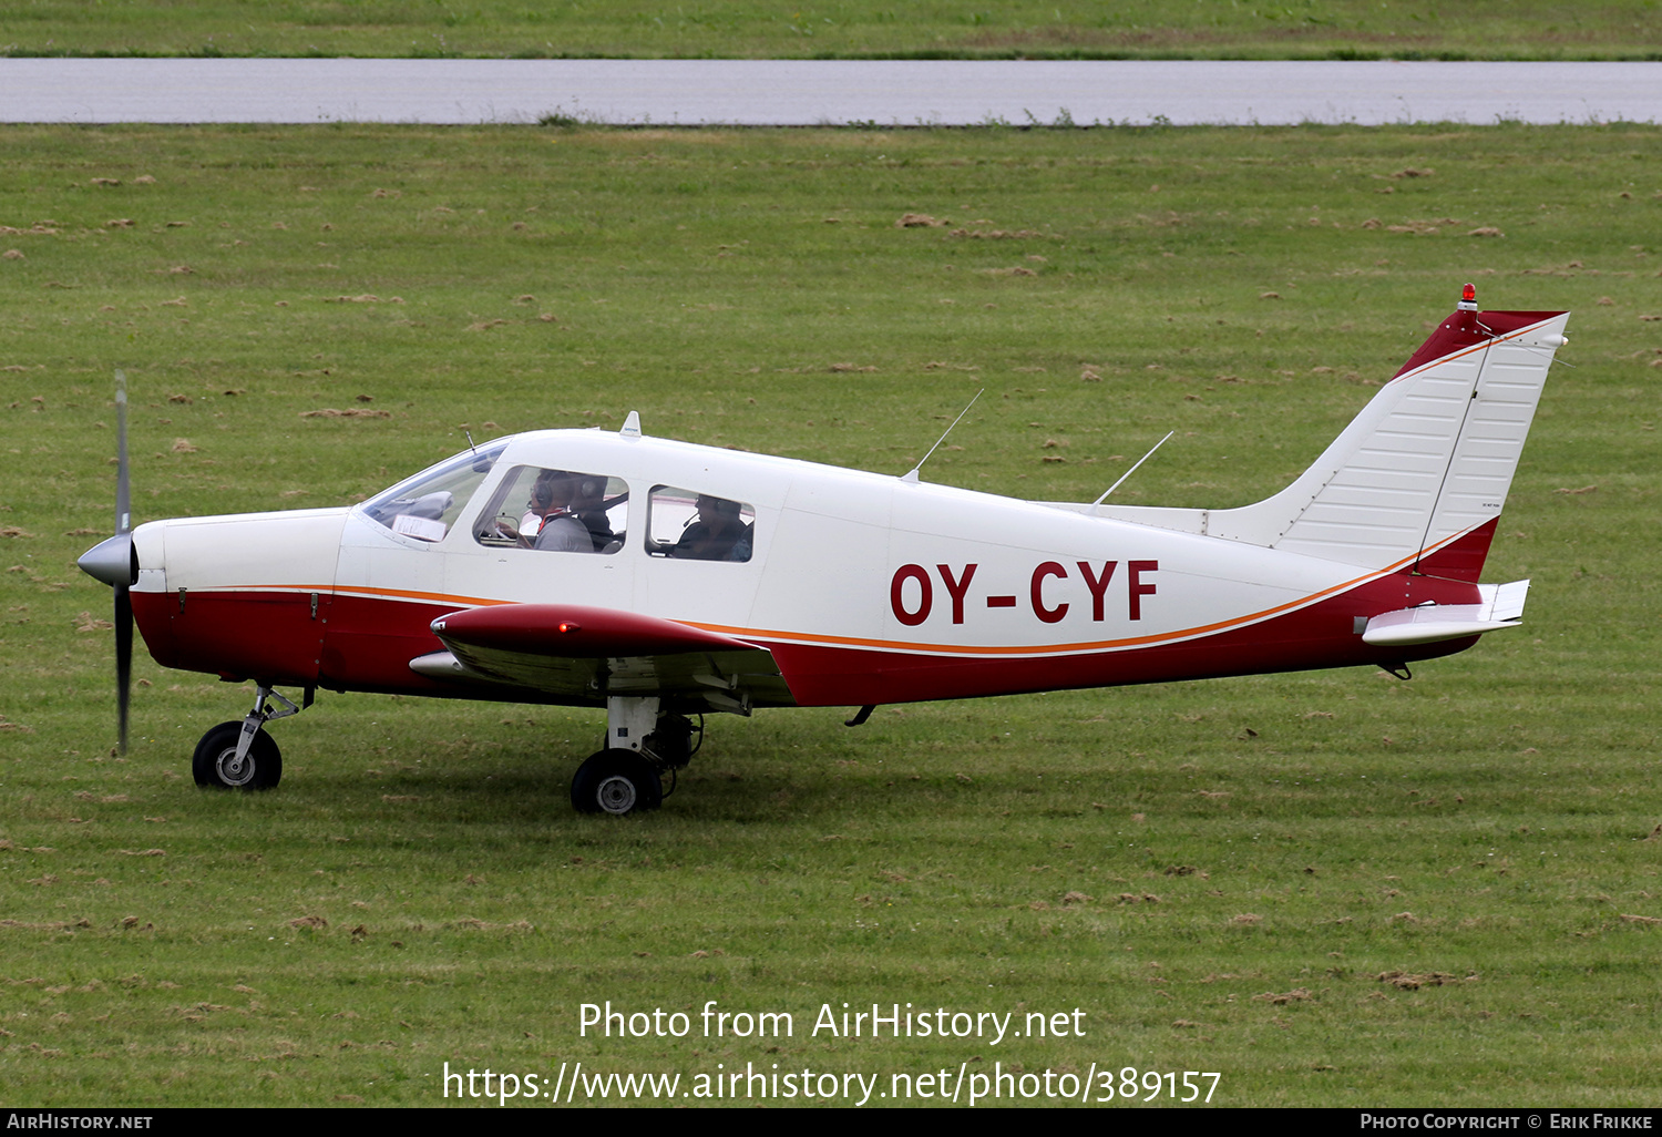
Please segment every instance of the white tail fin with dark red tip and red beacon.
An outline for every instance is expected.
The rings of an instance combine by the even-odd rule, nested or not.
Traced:
[[[1207,532],[1366,568],[1473,534],[1476,578],[1569,313],[1479,313],[1469,289],[1315,465]]]

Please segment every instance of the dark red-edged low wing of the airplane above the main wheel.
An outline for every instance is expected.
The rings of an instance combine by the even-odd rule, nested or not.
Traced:
[[[430,678],[535,692],[557,703],[658,696],[686,710],[750,713],[794,703],[773,655],[675,620],[567,603],[502,603],[432,622],[445,652],[411,660]]]

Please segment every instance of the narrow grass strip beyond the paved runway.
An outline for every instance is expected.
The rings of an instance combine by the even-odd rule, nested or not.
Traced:
[[[1655,0],[18,0],[0,12],[0,55],[1655,60],[1662,35]]]

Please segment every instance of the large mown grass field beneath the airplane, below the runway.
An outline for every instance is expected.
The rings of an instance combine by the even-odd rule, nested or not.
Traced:
[[[1655,128],[0,136],[12,1104],[442,1104],[444,1062],[577,1061],[1662,1097]],[[278,791],[199,793],[249,693],[140,653],[110,753],[110,592],[73,560],[115,367],[138,520],[359,500],[464,429],[630,409],[901,474],[982,387],[929,477],[1089,500],[1177,429],[1119,497],[1235,505],[1466,279],[1576,316],[1486,572],[1534,580],[1526,625],[1408,683],[711,720],[663,811],[598,821],[565,786],[600,716],[489,703],[326,695],[274,726]],[[387,417],[302,417],[347,407]],[[580,1037],[608,999],[693,1032]],[[710,999],[796,1031],[703,1037]],[[843,1002],[1085,1034],[813,1036]]]

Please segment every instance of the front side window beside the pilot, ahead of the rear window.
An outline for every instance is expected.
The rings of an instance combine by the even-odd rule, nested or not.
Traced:
[[[615,554],[628,522],[628,485],[605,474],[517,465],[474,525],[480,545]]]

